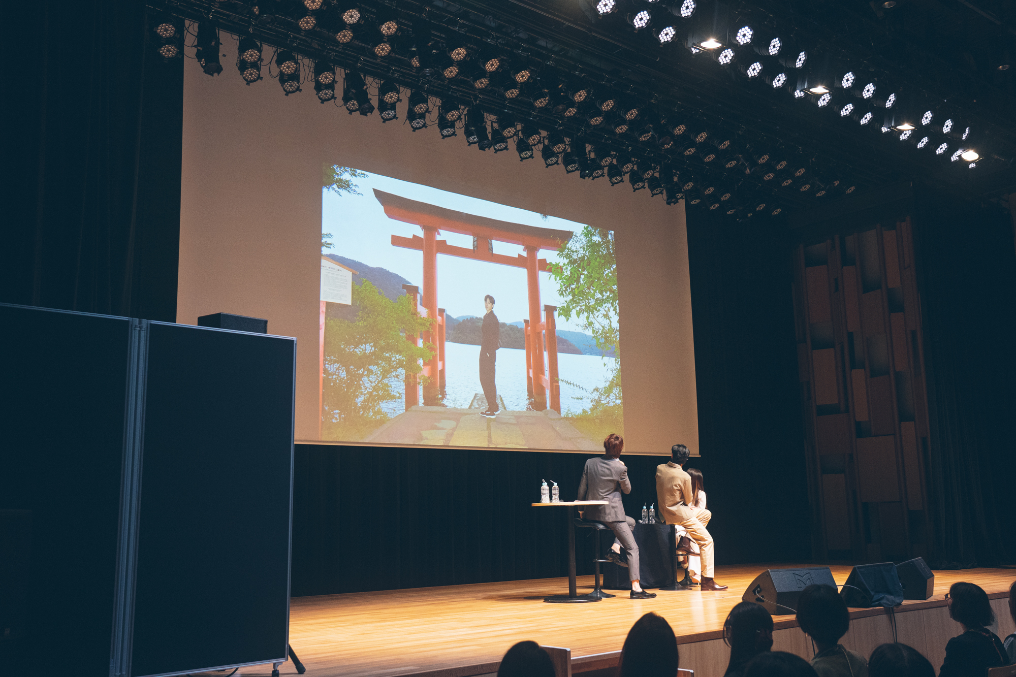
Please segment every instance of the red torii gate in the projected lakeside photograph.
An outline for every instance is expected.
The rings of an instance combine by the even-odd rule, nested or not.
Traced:
[[[430,332],[425,336],[425,341],[430,341],[438,348],[438,353],[424,366],[424,373],[428,376],[436,376],[424,387],[424,405],[438,405],[439,382],[444,382],[444,309],[438,308],[438,274],[437,255],[447,254],[460,258],[471,258],[477,261],[489,261],[501,265],[511,265],[517,268],[525,268],[526,286],[529,298],[529,319],[525,321],[525,348],[526,348],[526,386],[532,394],[533,408],[536,410],[547,409],[547,394],[551,395],[551,409],[560,413],[561,395],[558,384],[558,340],[555,329],[554,306],[545,306],[547,320],[542,318],[539,308],[539,272],[547,271],[547,259],[537,259],[536,254],[541,249],[557,251],[564,246],[571,237],[571,231],[559,231],[551,228],[537,228],[513,224],[496,219],[487,219],[471,213],[446,209],[444,207],[410,200],[406,197],[393,195],[381,190],[374,189],[374,196],[377,198],[384,212],[389,219],[401,221],[406,224],[417,225],[423,230],[424,237],[415,235],[411,238],[403,238],[398,235],[391,236],[391,244],[395,247],[416,249],[424,254],[424,290],[423,306],[427,311],[427,316],[436,319],[436,336],[430,336]],[[445,240],[438,240],[440,232],[450,231],[462,235],[472,236],[472,249],[449,245]],[[525,249],[525,255],[507,256],[505,254],[495,254],[493,242],[507,242],[521,245]],[[406,290],[410,296],[416,297],[416,289]],[[550,377],[544,374],[544,333],[547,332],[548,367]],[[414,341],[415,338],[409,338]],[[410,395],[411,389],[411,395]],[[416,403],[416,380],[410,383],[406,381],[406,403],[408,409]]]

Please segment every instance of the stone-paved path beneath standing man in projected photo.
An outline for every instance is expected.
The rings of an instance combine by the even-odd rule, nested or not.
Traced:
[[[473,397],[486,407],[483,395]],[[500,397],[499,397],[500,399]],[[450,446],[520,449],[576,449],[598,451],[602,444],[580,433],[554,410],[509,412],[502,408],[493,419],[483,409],[412,407],[375,431],[365,442],[441,444]]]

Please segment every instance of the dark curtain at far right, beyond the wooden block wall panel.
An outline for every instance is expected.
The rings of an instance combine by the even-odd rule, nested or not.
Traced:
[[[993,204],[915,191],[931,439],[923,449],[937,568],[1016,562],[1016,253]]]

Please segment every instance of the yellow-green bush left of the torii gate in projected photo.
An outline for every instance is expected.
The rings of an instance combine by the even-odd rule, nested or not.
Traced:
[[[325,323],[325,439],[360,440],[388,419],[382,405],[404,394],[405,374],[421,382],[421,361],[433,357],[430,344],[406,341],[429,330],[408,295],[391,301],[369,281],[353,286],[356,321],[329,318]]]

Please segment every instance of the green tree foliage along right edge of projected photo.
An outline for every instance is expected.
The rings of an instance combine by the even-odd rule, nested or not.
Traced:
[[[581,421],[576,425],[586,428],[583,432],[590,436],[598,436],[604,430],[621,433],[621,335],[614,233],[584,226],[558,250],[558,259],[561,263],[548,266],[565,299],[558,314],[581,323],[596,342],[596,348],[604,353],[613,350],[617,357],[607,382],[587,391],[589,409],[576,417],[586,419],[588,425],[582,426]]]

